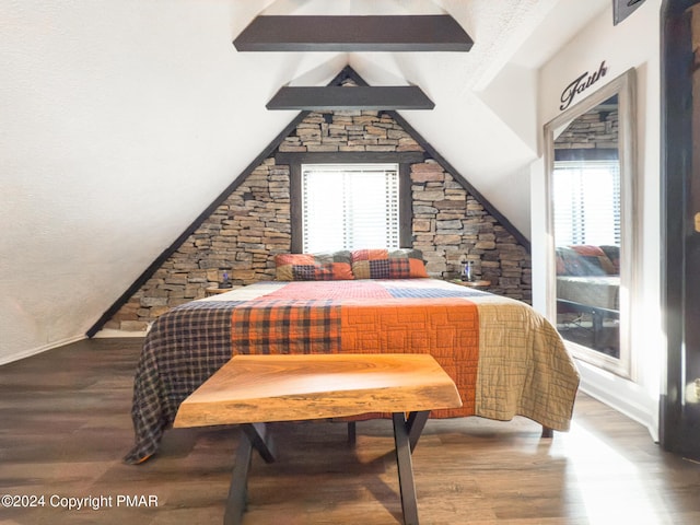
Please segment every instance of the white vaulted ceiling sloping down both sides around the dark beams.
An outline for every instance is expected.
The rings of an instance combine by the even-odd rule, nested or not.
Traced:
[[[0,5],[0,362],[84,334],[350,66],[525,236],[537,70],[609,0],[25,0]],[[259,15],[448,14],[460,51],[238,51]],[[250,122],[256,122],[254,126]],[[232,144],[236,144],[233,147]]]

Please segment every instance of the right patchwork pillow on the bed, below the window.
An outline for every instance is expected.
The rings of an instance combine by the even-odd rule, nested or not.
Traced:
[[[428,277],[419,249],[357,249],[351,254],[355,279],[412,279]]]

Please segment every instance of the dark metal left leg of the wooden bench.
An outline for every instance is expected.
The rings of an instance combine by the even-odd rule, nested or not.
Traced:
[[[241,425],[242,435],[236,463],[233,466],[226,509],[223,515],[224,525],[241,525],[247,505],[248,471],[253,459],[253,448],[260,453],[266,463],[275,462],[272,441],[264,423]]]

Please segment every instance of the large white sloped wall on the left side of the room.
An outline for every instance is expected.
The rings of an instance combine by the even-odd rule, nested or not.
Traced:
[[[231,44],[255,3],[0,3],[0,363],[84,337],[290,121]]]

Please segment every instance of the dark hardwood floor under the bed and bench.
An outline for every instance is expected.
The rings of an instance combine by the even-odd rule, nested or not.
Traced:
[[[151,460],[121,463],[141,342],[86,340],[0,366],[0,495],[20,504],[4,497],[0,523],[222,523],[235,428],[171,430]],[[400,523],[390,427],[359,423],[352,450],[341,423],[276,424],[279,462],[254,458],[245,523]],[[522,418],[430,420],[413,455],[421,523],[700,523],[700,465],[625,416],[581,394],[571,432],[539,432]],[[22,508],[32,497],[44,506]]]

